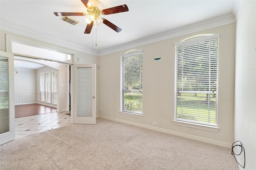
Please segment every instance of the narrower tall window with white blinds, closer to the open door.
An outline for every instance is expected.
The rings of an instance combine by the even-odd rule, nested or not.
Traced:
[[[121,57],[121,111],[142,115],[142,51]]]

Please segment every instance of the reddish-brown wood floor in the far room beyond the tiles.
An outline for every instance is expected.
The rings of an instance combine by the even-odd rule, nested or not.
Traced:
[[[56,112],[56,108],[41,104],[24,104],[15,106],[15,118],[52,112]]]

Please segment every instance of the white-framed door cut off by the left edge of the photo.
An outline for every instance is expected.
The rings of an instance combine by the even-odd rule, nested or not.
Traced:
[[[15,139],[13,64],[13,55],[0,51],[0,145]]]

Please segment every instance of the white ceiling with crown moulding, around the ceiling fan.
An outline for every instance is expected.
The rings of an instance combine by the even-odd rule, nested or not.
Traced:
[[[54,12],[84,12],[80,0],[0,0],[1,29],[62,47],[94,55],[104,55],[120,49],[175,36],[189,25],[209,25],[234,18],[240,1],[237,0],[100,0],[103,8],[126,4],[128,12],[100,16],[122,29],[119,33],[104,24],[97,31],[84,34],[85,18],[76,25],[60,20]],[[238,3],[239,2],[239,3]],[[198,22],[200,24],[198,24]],[[223,23],[223,21],[222,21]],[[195,24],[194,24],[195,25]],[[200,31],[197,27],[195,30]],[[182,30],[182,29],[181,29]],[[194,32],[195,32],[194,30]],[[186,31],[184,31],[185,33]],[[168,36],[166,36],[168,35]],[[97,46],[95,43],[97,41]]]

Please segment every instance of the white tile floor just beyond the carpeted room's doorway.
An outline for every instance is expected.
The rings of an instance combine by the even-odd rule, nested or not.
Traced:
[[[70,123],[68,111],[15,118],[15,139],[65,126]]]

